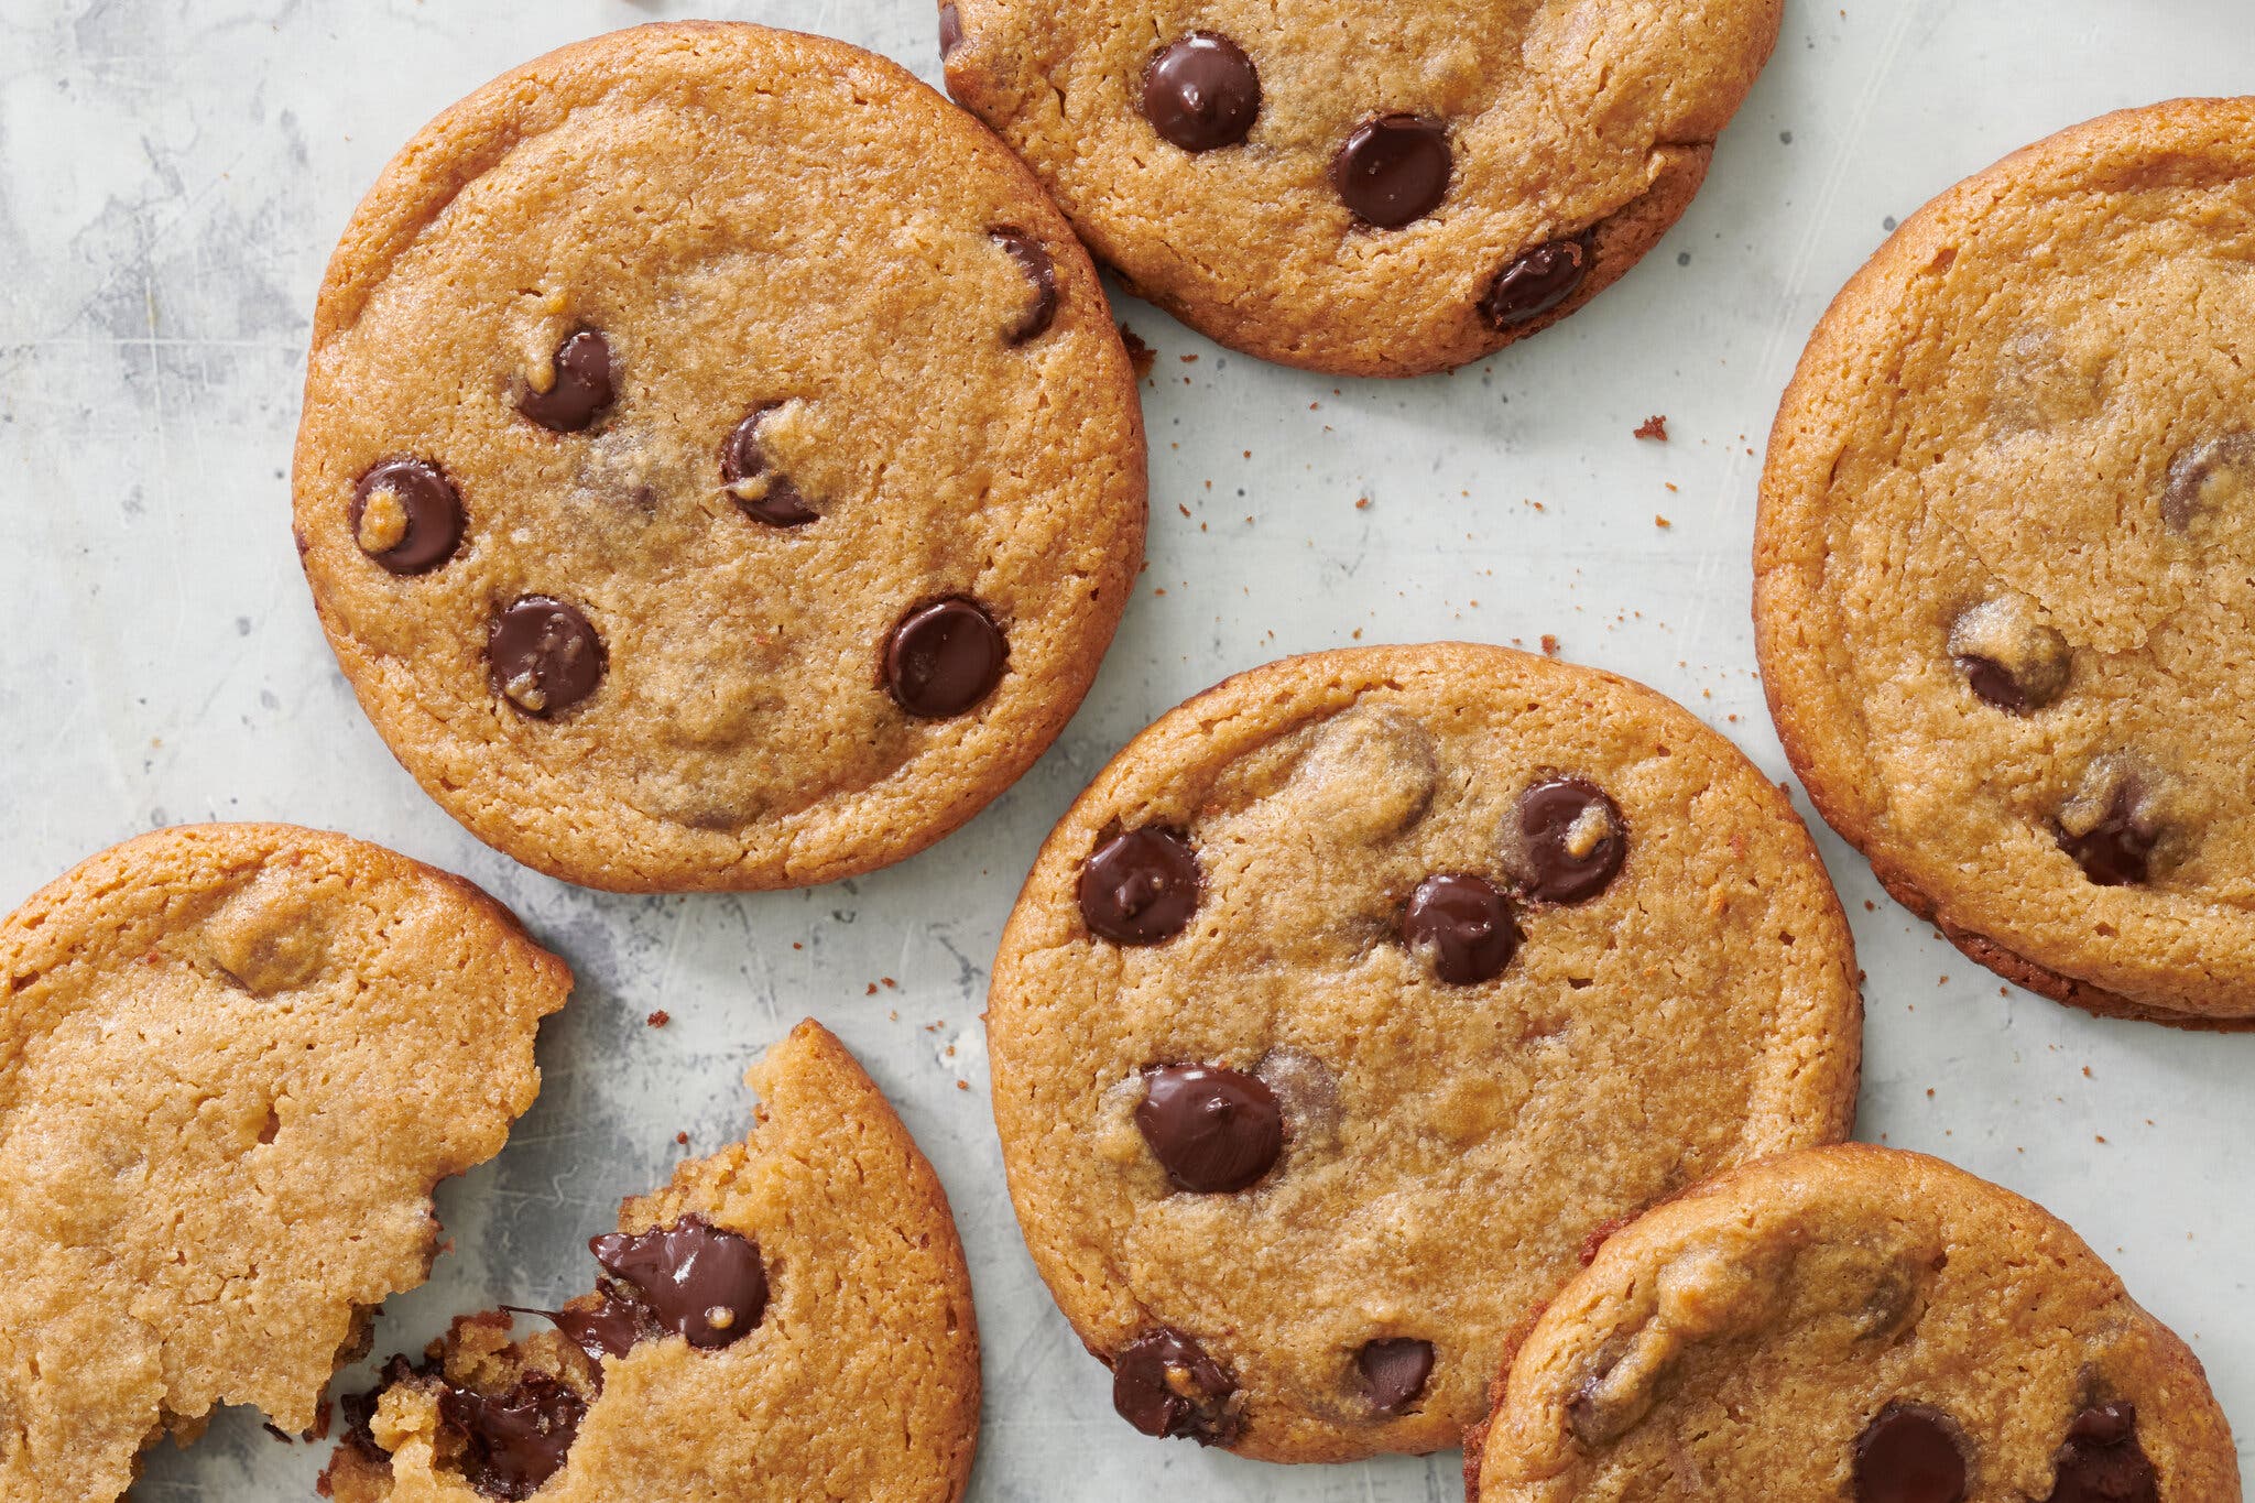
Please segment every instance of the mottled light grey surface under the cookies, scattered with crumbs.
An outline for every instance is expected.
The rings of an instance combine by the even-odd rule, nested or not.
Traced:
[[[744,1064],[814,1014],[954,1197],[985,1334],[972,1496],[1457,1498],[1454,1456],[1281,1469],[1112,1415],[1026,1262],[985,1106],[976,1014],[1035,845],[1168,705],[1355,633],[1556,633],[1784,775],[1748,541],[1809,327],[1890,216],[2005,151],[2115,106],[2255,88],[2246,0],[1793,0],[1684,223],[1592,309],[1454,376],[1272,370],[1121,302],[1159,349],[1150,572],[1060,746],[967,831],[864,881],[604,897],[487,852],[392,764],[316,629],[284,473],[313,288],[383,160],[546,47],[688,14],[938,74],[929,0],[0,0],[0,908],[151,825],[280,818],[467,872],[573,962],[541,1100],[442,1190],[456,1253],[386,1307],[379,1354],[453,1311],[584,1289],[582,1239],[616,1199],[681,1156],[676,1129],[697,1151],[737,1136]],[[1651,412],[1666,446],[1630,437]],[[2000,996],[1820,843],[1869,971],[1863,1136],[2061,1212],[2255,1435],[2255,1039]],[[866,996],[879,978],[897,989]],[[654,1007],[663,1032],[643,1025]],[[309,1498],[322,1456],[237,1413],[156,1453],[138,1496]]]

